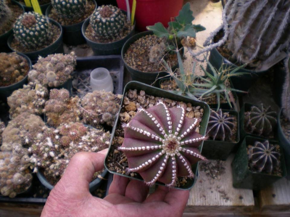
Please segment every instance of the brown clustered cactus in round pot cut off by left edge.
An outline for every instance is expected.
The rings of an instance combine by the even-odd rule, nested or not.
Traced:
[[[0,86],[8,86],[24,79],[28,74],[27,60],[13,53],[0,53]]]

